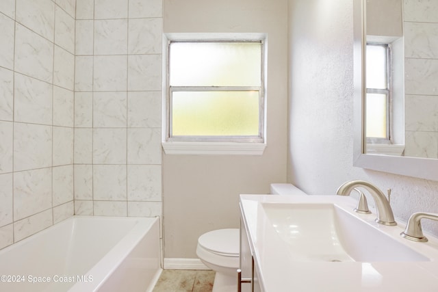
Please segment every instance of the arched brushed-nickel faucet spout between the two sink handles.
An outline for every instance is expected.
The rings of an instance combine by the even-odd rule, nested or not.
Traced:
[[[377,209],[377,223],[390,226],[397,225],[385,194],[372,183],[368,183],[368,181],[347,181],[337,189],[336,194],[338,196],[350,196],[351,191],[356,187],[365,188],[374,199]]]

